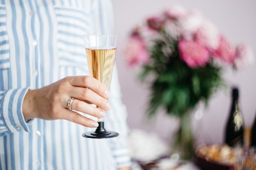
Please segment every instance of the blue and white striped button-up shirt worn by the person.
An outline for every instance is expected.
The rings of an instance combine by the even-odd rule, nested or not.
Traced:
[[[129,166],[126,108],[117,70],[106,129],[112,139],[87,139],[94,129],[66,120],[25,121],[28,89],[88,75],[86,33],[112,32],[110,0],[0,0],[0,170],[115,170]],[[93,118],[95,119],[95,118]]]

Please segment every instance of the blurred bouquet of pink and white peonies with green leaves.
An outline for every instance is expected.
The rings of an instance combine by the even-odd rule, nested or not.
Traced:
[[[180,6],[136,26],[124,52],[130,66],[142,67],[140,79],[151,84],[150,117],[163,108],[182,118],[200,101],[207,105],[226,84],[223,68],[237,70],[253,61],[248,46],[232,46],[198,11]]]

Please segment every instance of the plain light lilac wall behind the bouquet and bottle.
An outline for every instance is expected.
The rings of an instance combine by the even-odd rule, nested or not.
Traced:
[[[198,9],[204,17],[211,20],[232,43],[246,42],[256,56],[256,1],[255,0],[113,0],[115,34],[119,35],[117,66],[123,93],[123,102],[128,110],[130,128],[140,128],[159,134],[165,140],[171,140],[177,128],[177,120],[160,113],[153,122],[144,118],[150,91],[136,79],[136,71],[128,68],[123,58],[123,49],[132,27],[145,18],[171,6],[180,4],[187,9]],[[243,71],[225,73],[230,84],[240,88],[240,103],[245,126],[251,126],[256,113],[256,62]],[[229,112],[230,94],[219,91],[212,97],[209,107],[204,109],[202,121],[194,120],[195,132],[202,130],[203,139],[221,143],[223,130]],[[192,114],[194,117],[194,115]]]

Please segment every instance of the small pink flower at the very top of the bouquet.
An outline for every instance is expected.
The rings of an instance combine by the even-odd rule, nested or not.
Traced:
[[[164,14],[166,15],[167,18],[178,19],[183,18],[184,16],[186,16],[187,13],[188,11],[184,7],[175,5],[168,8]]]

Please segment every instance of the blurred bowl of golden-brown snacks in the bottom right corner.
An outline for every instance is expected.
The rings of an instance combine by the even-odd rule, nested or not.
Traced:
[[[194,163],[202,170],[256,170],[256,149],[226,144],[198,146]]]

